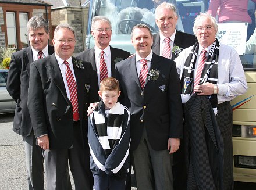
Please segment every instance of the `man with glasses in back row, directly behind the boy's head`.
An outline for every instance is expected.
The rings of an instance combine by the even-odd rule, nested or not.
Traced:
[[[109,45],[111,41],[111,22],[105,16],[93,17],[91,24],[91,34],[95,40],[94,48],[87,49],[86,51],[77,54],[77,58],[90,62],[93,70],[97,71],[98,84],[101,81],[101,52],[104,51],[104,60],[108,70],[108,77],[115,76],[115,64],[130,56],[130,53],[122,49],[113,48]]]

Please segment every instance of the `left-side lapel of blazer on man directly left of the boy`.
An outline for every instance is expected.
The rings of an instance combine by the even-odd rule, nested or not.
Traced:
[[[49,73],[49,76],[52,78],[55,85],[58,87],[59,91],[61,91],[61,94],[63,95],[67,103],[69,103],[69,105],[72,106],[71,102],[69,101],[69,98],[67,98],[67,92],[62,78],[61,69],[59,69],[59,64],[57,62],[55,54],[52,54],[50,57],[50,63],[46,63],[45,65]]]

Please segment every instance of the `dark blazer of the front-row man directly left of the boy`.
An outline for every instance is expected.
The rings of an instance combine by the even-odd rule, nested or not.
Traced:
[[[84,68],[78,68],[77,61]],[[73,57],[72,62],[77,82],[81,136],[84,146],[88,146],[87,108],[99,99],[97,78],[90,63]],[[73,145],[72,103],[67,98],[55,55],[31,63],[28,98],[35,137],[48,134],[50,148],[70,148]]]

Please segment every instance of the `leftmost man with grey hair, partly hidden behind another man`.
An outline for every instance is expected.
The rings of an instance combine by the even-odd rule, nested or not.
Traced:
[[[31,17],[27,23],[30,45],[12,54],[7,81],[7,90],[17,102],[13,131],[22,135],[26,164],[28,189],[44,189],[44,167],[42,149],[35,145],[35,136],[27,109],[27,89],[29,88],[30,63],[54,53],[54,47],[48,45],[49,27],[40,16]]]

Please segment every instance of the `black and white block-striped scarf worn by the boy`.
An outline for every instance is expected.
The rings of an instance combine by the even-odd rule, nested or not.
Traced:
[[[124,106],[117,102],[109,110],[108,118],[101,111],[104,110],[104,103],[101,100],[98,105],[98,110],[94,111],[95,132],[99,138],[99,142],[105,151],[106,157],[110,155],[113,148],[118,145],[120,138],[125,132],[126,126],[123,126]],[[107,122],[106,122],[107,121]]]

